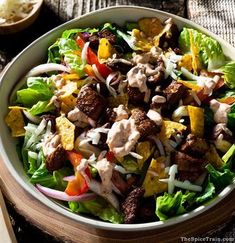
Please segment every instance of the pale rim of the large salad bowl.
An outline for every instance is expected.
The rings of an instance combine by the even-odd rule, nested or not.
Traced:
[[[129,6],[129,5],[120,5],[120,6],[112,6],[112,7],[107,7],[107,8],[102,8],[99,10],[95,10],[89,13],[86,13],[82,16],[79,16],[77,18],[74,18],[70,21],[67,21],[56,28],[53,28],[52,30],[48,31],[47,33],[43,34],[41,37],[33,41],[30,45],[28,45],[24,50],[22,50],[13,60],[11,63],[3,70],[1,73],[0,77],[0,84],[2,83],[3,77],[5,74],[10,70],[11,66],[13,63],[28,49],[30,49],[32,46],[36,45],[38,42],[40,42],[44,37],[47,35],[50,35],[52,32],[55,32],[57,30],[62,29],[63,27],[66,27],[67,25],[70,25],[75,22],[79,22],[80,19],[89,17],[90,15],[95,15],[97,12],[102,13],[106,11],[112,11],[115,9],[137,9],[137,10],[145,10],[145,11],[151,11],[153,14],[161,14],[164,15],[165,17],[172,17],[173,19],[176,19],[184,24],[188,24],[189,26],[192,26],[193,28],[200,29],[202,32],[206,32],[210,34],[213,38],[217,39],[220,43],[223,43],[223,45],[227,46],[228,48],[231,48],[233,51],[235,51],[235,48],[223,40],[221,37],[213,34],[211,31],[205,29],[204,27],[188,20],[183,17],[167,13],[161,10],[156,10],[156,9],[151,9],[151,8],[146,8],[146,7],[140,7],[140,6]],[[30,195],[32,195],[36,200],[40,201],[43,203],[45,206],[49,207],[52,209],[54,212],[57,212],[64,217],[67,217],[69,219],[72,219],[76,221],[77,223],[89,226],[89,227],[94,227],[97,229],[104,229],[104,230],[110,230],[110,231],[129,231],[129,232],[135,232],[135,231],[149,231],[149,230],[157,230],[161,228],[167,228],[172,225],[176,225],[179,223],[184,223],[187,220],[190,220],[191,218],[194,218],[198,215],[201,215],[202,213],[210,210],[212,207],[217,205],[219,202],[221,202],[226,196],[230,194],[230,192],[235,188],[235,180],[233,181],[232,184],[229,186],[225,187],[217,196],[214,198],[211,202],[209,202],[206,205],[199,206],[198,208],[190,211],[189,213],[185,213],[180,216],[176,216],[174,218],[168,219],[167,221],[155,221],[155,222],[150,222],[150,223],[140,223],[140,224],[112,224],[96,219],[90,219],[85,216],[78,215],[76,213],[72,213],[68,209],[64,209],[62,205],[56,203],[55,201],[49,199],[48,197],[44,196],[41,194],[38,190],[36,190],[34,185],[29,185],[27,184],[18,174],[16,169],[13,167],[13,164],[11,163],[10,159],[8,158],[8,155],[6,154],[6,151],[3,146],[3,140],[2,136],[0,134],[0,155],[2,157],[3,163],[7,166],[9,172],[14,176],[15,180],[20,184],[20,186],[27,191]]]

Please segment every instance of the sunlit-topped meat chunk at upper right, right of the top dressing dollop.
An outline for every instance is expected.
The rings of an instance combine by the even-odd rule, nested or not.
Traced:
[[[179,100],[182,99],[187,88],[176,81],[172,81],[171,84],[164,90],[169,105],[177,105]]]

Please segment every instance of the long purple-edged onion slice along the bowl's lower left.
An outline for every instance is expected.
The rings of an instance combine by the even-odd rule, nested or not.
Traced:
[[[65,192],[54,190],[48,187],[41,186],[40,184],[36,184],[36,188],[43,193],[44,195],[54,198],[54,199],[59,199],[62,201],[67,201],[67,202],[82,202],[82,201],[89,201],[92,199],[95,199],[97,195],[95,193],[85,193],[79,196],[69,196]]]

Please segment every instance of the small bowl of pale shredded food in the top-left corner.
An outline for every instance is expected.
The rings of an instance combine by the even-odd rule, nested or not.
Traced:
[[[38,17],[43,0],[0,0],[0,35],[19,32]]]

